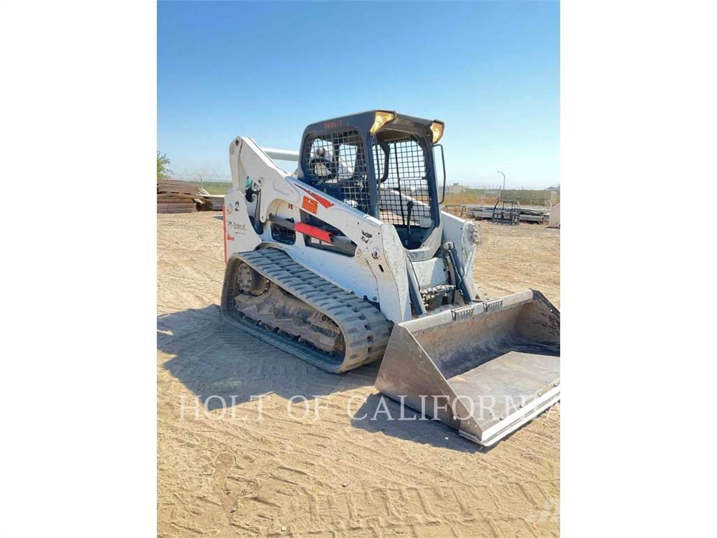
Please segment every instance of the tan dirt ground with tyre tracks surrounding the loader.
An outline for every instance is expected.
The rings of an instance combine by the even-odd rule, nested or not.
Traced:
[[[157,216],[159,536],[559,535],[559,405],[490,450],[387,420],[400,408],[381,407],[376,364],[326,374],[222,322],[221,219]],[[559,230],[481,228],[490,296],[559,306]]]

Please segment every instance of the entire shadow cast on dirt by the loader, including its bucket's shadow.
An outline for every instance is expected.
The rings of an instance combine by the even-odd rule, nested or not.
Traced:
[[[157,349],[174,355],[163,367],[209,411],[249,402],[252,396],[313,400],[363,388],[374,394],[356,397],[361,405],[346,417],[354,428],[460,452],[488,450],[437,420],[419,420],[419,412],[409,407],[402,415],[398,402],[375,392],[380,362],[345,374],[323,372],[225,324],[216,304],[157,316]],[[397,420],[401,417],[407,420]]]

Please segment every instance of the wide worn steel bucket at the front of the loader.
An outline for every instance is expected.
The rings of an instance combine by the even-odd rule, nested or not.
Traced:
[[[560,399],[560,313],[526,290],[396,324],[376,388],[493,445]]]

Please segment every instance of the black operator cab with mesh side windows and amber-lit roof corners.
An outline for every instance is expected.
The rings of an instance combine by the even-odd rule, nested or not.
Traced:
[[[302,137],[299,178],[393,225],[404,247],[417,249],[440,225],[433,148],[443,128],[440,121],[384,110],[314,123]]]

